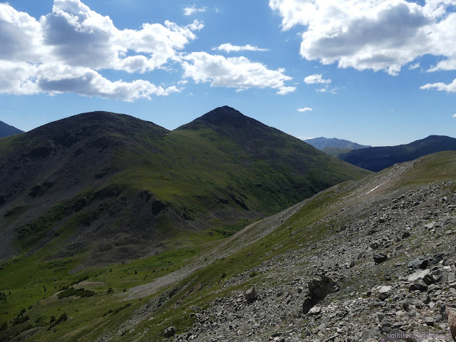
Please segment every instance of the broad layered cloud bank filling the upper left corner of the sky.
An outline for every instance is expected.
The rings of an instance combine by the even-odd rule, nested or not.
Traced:
[[[0,4],[0,93],[77,93],[133,101],[180,91],[149,81],[110,81],[103,70],[145,73],[180,58],[203,26],[143,24],[119,30],[80,0],[55,0],[38,21]]]

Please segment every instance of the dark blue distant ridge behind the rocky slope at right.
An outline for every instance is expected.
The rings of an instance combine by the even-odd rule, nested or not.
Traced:
[[[398,162],[408,162],[431,153],[456,150],[456,139],[443,135],[410,142],[407,145],[368,147],[338,155],[341,160],[374,172]]]

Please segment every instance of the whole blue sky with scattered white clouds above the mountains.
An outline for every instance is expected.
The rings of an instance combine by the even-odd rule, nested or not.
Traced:
[[[296,137],[455,137],[456,0],[0,3],[0,120],[229,105]]]

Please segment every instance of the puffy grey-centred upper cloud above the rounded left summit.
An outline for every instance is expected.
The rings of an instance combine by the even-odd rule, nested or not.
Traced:
[[[178,26],[142,24],[140,30],[118,30],[108,16],[90,10],[80,0],[54,0],[53,11],[41,19],[43,38],[59,61],[95,70],[144,73],[177,56],[203,26],[194,21]]]

